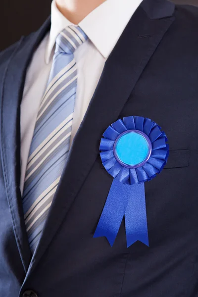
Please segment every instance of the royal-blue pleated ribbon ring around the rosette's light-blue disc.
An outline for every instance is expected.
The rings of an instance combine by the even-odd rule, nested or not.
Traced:
[[[138,168],[126,168],[116,160],[113,147],[120,134],[128,130],[145,133],[152,145],[148,161]],[[100,142],[100,157],[106,171],[123,184],[144,183],[159,174],[167,163],[169,146],[166,134],[155,122],[141,116],[128,116],[111,124],[103,133]]]

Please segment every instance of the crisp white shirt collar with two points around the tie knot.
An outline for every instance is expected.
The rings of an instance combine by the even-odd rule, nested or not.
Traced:
[[[107,58],[141,2],[142,0],[106,0],[89,13],[78,26],[87,34],[103,57]],[[73,24],[62,15],[53,0],[51,29],[46,50],[47,64],[52,55],[56,37],[69,25]]]

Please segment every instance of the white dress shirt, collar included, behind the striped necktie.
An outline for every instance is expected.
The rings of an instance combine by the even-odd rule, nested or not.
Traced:
[[[104,63],[141,2],[142,0],[106,0],[78,24],[89,40],[74,52],[78,83],[71,142],[92,99]],[[69,25],[73,24],[61,14],[53,0],[51,29],[33,55],[21,102],[21,193],[23,193],[27,159],[37,113],[52,65],[55,40],[58,34]]]

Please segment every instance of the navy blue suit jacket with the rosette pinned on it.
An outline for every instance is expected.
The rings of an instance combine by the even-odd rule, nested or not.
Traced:
[[[20,102],[42,28],[0,54],[0,297],[198,297],[198,8],[144,0],[105,63],[31,257],[20,182]],[[36,94],[35,94],[36,95]],[[99,158],[118,118],[166,132],[166,168],[146,183],[149,247],[93,238],[112,177]],[[29,291],[32,290],[32,291]],[[34,293],[35,292],[35,293]]]

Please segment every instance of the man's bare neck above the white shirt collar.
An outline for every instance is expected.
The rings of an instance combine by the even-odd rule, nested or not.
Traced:
[[[73,24],[78,24],[105,0],[56,0],[59,11]]]

